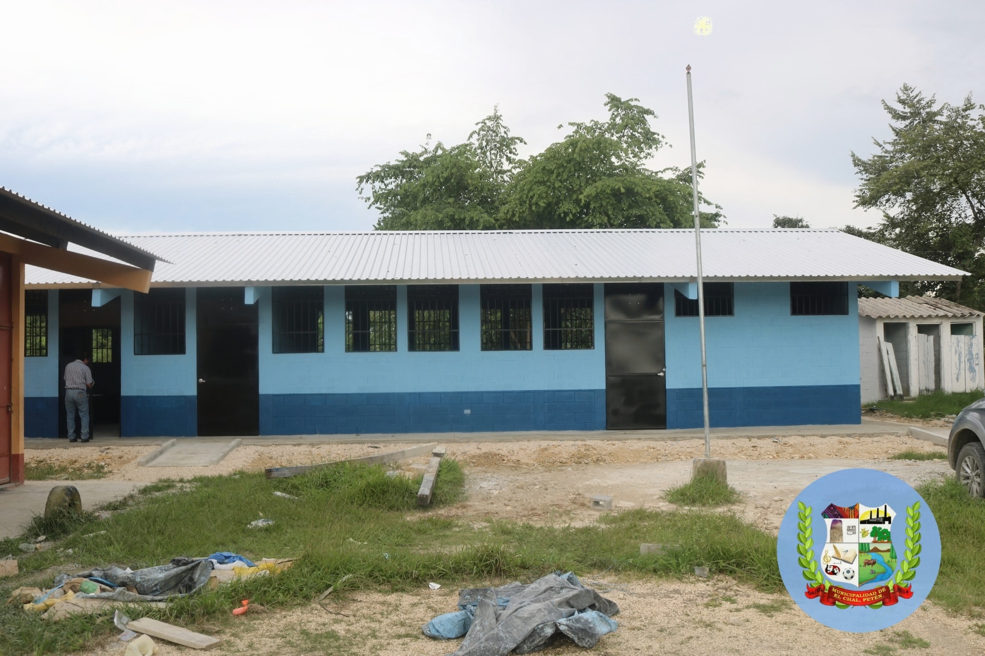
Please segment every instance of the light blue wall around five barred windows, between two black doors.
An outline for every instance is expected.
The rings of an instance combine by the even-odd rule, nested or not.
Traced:
[[[365,393],[605,388],[603,285],[595,285],[595,348],[545,351],[542,286],[533,285],[533,350],[483,351],[479,285],[459,286],[457,352],[407,350],[407,287],[397,287],[397,351],[345,352],[345,288],[325,287],[325,352],[275,354],[271,294],[260,304],[260,393]]]

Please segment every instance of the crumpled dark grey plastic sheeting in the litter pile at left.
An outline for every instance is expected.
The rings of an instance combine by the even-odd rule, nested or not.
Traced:
[[[69,576],[60,574],[55,585],[69,578],[98,577],[118,586],[112,592],[98,594],[79,594],[79,599],[114,599],[116,601],[164,601],[168,597],[184,596],[195,592],[209,581],[212,563],[198,558],[175,558],[168,565],[146,567],[127,571],[110,566],[105,569],[90,569]],[[127,590],[130,586],[136,594]]]

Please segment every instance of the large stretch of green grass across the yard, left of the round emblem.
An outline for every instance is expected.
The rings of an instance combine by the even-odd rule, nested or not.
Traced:
[[[434,504],[461,498],[464,476],[451,459],[441,463]],[[270,609],[310,603],[330,585],[335,594],[355,589],[418,590],[428,581],[482,585],[505,579],[533,580],[554,570],[610,570],[685,576],[710,567],[764,591],[781,591],[775,538],[733,513],[632,509],[600,517],[588,526],[534,526],[490,521],[482,528],[435,516],[416,507],[420,477],[388,477],[380,467],[340,466],[301,477],[268,481],[262,474],[196,478],[171,492],[136,495],[105,519],[74,525],[56,550],[22,560],[17,581],[41,587],[53,573],[109,563],[161,565],[176,556],[231,551],[250,559],[296,557],[295,567],[216,590],[175,599],[166,609],[136,611],[165,622],[214,631],[230,626],[241,599]],[[275,497],[280,490],[299,499]],[[260,515],[276,523],[248,529]],[[84,539],[82,535],[105,530]],[[666,554],[639,554],[640,542],[681,545]],[[364,544],[360,544],[364,543]],[[66,567],[71,559],[78,564]],[[49,569],[50,567],[50,569]],[[32,572],[34,575],[32,576]],[[130,616],[135,617],[135,616]],[[78,649],[114,631],[107,616],[48,624],[20,608],[0,606],[0,653],[11,655]],[[330,633],[298,636],[299,642],[328,645]]]

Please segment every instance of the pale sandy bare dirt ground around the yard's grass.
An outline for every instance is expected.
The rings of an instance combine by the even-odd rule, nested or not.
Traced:
[[[28,461],[58,458],[68,463],[98,458],[105,462],[110,479],[153,481],[336,460],[402,447],[238,447],[217,466],[180,470],[139,467],[136,459],[153,447],[32,449]],[[586,523],[598,516],[589,508],[594,494],[612,496],[617,511],[625,507],[670,507],[662,495],[672,485],[688,480],[691,458],[702,450],[698,440],[448,445],[448,454],[468,473],[468,499],[432,512],[473,522],[502,518]],[[830,471],[877,468],[911,484],[951,475],[946,460],[887,459],[903,450],[944,452],[942,447],[900,436],[719,439],[713,444],[713,455],[728,462],[729,483],[742,493],[734,509],[772,532],[794,497]],[[426,457],[414,458],[395,466],[417,471],[426,461]],[[886,649],[901,648],[893,642],[898,639],[894,631],[903,630],[930,642],[930,647],[918,650],[928,656],[985,653],[985,636],[973,631],[979,621],[950,616],[930,602],[898,626],[856,635],[817,624],[785,594],[755,592],[727,577],[661,580],[600,574],[584,576],[583,580],[620,605],[619,630],[604,637],[591,652],[562,646],[543,653],[798,654],[823,645],[856,654],[865,650],[892,654],[896,652]],[[311,605],[291,612],[247,616],[238,626],[217,626],[211,632],[226,640],[218,651],[230,654],[446,654],[454,651],[459,641],[429,639],[421,626],[435,615],[455,610],[456,595],[457,589],[447,586],[415,593],[353,592],[329,598],[324,607]],[[159,656],[187,653],[184,648],[158,642]],[[122,654],[123,650],[122,643],[109,640],[88,654]]]

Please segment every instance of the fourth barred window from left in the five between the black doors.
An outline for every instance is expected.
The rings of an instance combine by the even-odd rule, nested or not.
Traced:
[[[531,286],[481,285],[480,324],[484,351],[529,351]]]

